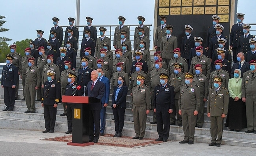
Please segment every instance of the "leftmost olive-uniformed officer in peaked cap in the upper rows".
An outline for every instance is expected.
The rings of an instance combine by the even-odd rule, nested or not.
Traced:
[[[101,51],[100,50],[103,48],[104,43],[106,43],[108,45],[111,45],[110,38],[105,36],[106,31],[107,31],[106,28],[99,27],[99,34],[101,35],[101,37],[96,39],[96,46],[95,46],[95,57],[96,58],[101,57]]]

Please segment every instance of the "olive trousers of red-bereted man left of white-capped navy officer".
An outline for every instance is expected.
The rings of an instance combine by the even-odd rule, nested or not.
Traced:
[[[35,87],[37,84],[25,84],[25,100],[28,111],[35,111]]]

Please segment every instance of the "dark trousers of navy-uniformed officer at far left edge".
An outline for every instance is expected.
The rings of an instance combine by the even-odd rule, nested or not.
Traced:
[[[4,104],[6,106],[6,109],[14,109],[15,91],[15,88],[4,87]]]

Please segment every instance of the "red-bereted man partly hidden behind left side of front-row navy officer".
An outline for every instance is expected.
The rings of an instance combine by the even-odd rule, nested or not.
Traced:
[[[160,81],[159,73],[164,73],[166,75],[169,75],[168,71],[166,69],[163,69],[162,66],[163,66],[162,60],[158,59],[155,61],[155,68],[152,71],[150,71],[149,87],[151,88],[151,104],[152,104],[151,107],[152,108],[153,108],[153,101],[155,100],[155,86],[157,86],[157,84],[159,84],[159,81]],[[150,123],[151,124],[157,123],[157,117],[154,111],[153,111],[153,121]]]

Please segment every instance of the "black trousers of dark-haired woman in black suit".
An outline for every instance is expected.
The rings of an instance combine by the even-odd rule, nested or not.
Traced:
[[[124,128],[125,108],[112,107],[112,110],[114,115],[115,131],[121,133]]]

